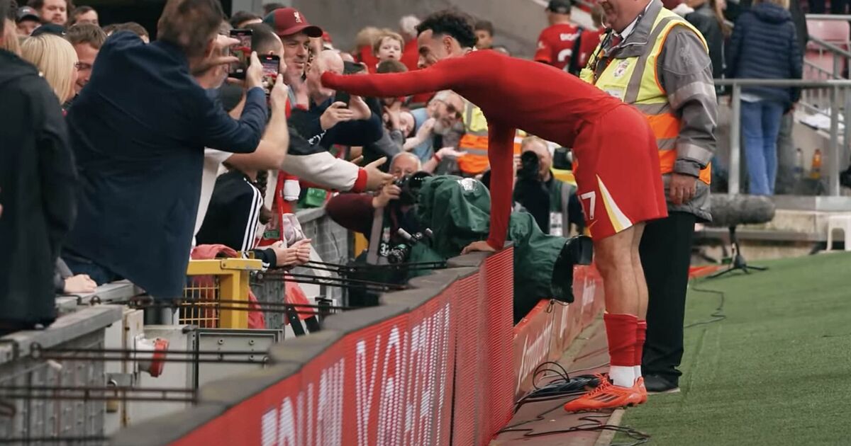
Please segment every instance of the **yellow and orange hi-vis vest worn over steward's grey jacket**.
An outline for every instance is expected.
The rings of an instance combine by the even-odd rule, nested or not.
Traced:
[[[674,170],[677,162],[677,136],[680,133],[680,118],[671,110],[665,88],[662,88],[659,73],[657,73],[656,59],[665,44],[665,38],[674,26],[685,26],[693,31],[700,42],[703,42],[706,51],[709,47],[700,31],[683,20],[679,15],[668,9],[662,8],[656,16],[653,27],[648,37],[648,45],[644,53],[637,57],[618,59],[614,56],[603,73],[595,79],[594,67],[597,60],[605,58],[600,46],[593,54],[599,54],[588,61],[588,66],[580,72],[580,78],[594,84],[606,93],[619,98],[626,104],[632,104],[644,116],[653,129],[656,136],[656,145],[659,147],[659,161],[662,173],[670,173]],[[651,45],[652,43],[652,45]],[[600,60],[600,63],[606,61]],[[711,166],[707,165],[700,171],[700,180],[706,184],[710,183]]]

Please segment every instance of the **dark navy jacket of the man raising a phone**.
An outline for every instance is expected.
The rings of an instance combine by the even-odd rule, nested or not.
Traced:
[[[204,147],[253,152],[266,115],[261,88],[234,121],[192,79],[180,48],[113,34],[68,111],[81,189],[67,250],[152,296],[181,296]]]

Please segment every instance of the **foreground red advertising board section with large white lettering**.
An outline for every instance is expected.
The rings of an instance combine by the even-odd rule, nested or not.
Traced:
[[[447,444],[455,355],[452,291],[344,336],[295,375],[174,444]]]

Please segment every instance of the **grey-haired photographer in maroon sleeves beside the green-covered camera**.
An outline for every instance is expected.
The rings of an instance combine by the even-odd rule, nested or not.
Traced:
[[[390,246],[401,241],[397,240],[398,229],[405,229],[409,234],[420,232],[414,214],[409,212],[413,209],[413,202],[399,187],[400,179],[420,170],[420,159],[416,155],[400,153],[390,164],[390,173],[396,179],[394,183],[387,184],[376,195],[337,195],[328,201],[325,211],[340,226],[365,235],[370,241],[370,251],[384,257]],[[379,218],[383,220],[380,226],[374,224]],[[374,237],[380,237],[379,246],[372,245]]]

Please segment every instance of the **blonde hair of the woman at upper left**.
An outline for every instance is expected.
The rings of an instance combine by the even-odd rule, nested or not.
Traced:
[[[60,104],[74,97],[78,60],[71,43],[52,34],[29,37],[20,45],[20,56],[36,65]]]

